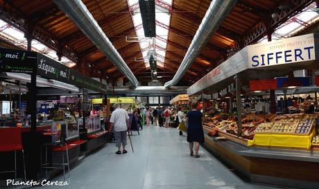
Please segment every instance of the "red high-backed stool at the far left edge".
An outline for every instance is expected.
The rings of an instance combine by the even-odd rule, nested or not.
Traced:
[[[26,181],[26,163],[24,162],[24,149],[21,140],[21,128],[5,127],[0,128],[0,151],[15,151],[15,170],[2,171],[0,173],[14,172],[17,179],[17,151],[22,151],[24,163],[24,181]]]

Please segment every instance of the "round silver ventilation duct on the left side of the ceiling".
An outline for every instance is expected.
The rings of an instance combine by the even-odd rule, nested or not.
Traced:
[[[115,49],[112,42],[107,38],[102,28],[94,19],[85,4],[80,0],[54,0],[55,4],[62,10],[87,37],[100,49],[105,56],[119,68],[119,71],[126,76],[135,86],[139,85],[136,77],[126,65],[123,58]]]

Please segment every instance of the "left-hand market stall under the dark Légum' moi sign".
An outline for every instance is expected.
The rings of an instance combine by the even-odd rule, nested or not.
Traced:
[[[0,54],[1,100],[10,101],[1,126],[21,127],[27,177],[37,178],[40,146],[46,143],[65,138],[70,161],[77,161],[89,136],[88,93],[106,94],[106,85],[36,52],[0,49]],[[51,148],[50,154],[58,151]]]

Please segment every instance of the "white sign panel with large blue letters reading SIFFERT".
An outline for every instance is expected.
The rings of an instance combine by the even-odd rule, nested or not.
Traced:
[[[315,60],[314,35],[248,46],[248,67],[267,67]]]

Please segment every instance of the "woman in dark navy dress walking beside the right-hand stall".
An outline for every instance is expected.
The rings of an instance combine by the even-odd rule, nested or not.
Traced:
[[[200,143],[205,142],[204,131],[202,131],[202,122],[205,121],[205,117],[198,111],[197,105],[191,105],[192,110],[187,113],[187,122],[189,123],[187,131],[187,142],[189,142],[189,151],[193,156],[193,146],[195,144],[195,158],[199,158],[198,150]]]

